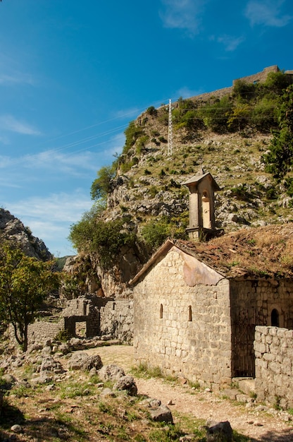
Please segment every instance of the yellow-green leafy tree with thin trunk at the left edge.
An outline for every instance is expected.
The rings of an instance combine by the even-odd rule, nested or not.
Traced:
[[[52,271],[52,261],[37,261],[10,244],[0,248],[0,320],[11,323],[15,339],[27,350],[27,328],[37,317],[37,310],[53,289],[59,275]]]

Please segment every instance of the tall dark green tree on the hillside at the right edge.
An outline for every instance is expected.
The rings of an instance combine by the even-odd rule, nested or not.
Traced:
[[[279,130],[273,133],[270,152],[264,157],[266,170],[280,181],[293,165],[293,85],[280,99]]]

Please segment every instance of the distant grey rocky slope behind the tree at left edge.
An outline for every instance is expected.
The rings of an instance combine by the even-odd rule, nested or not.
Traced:
[[[27,256],[32,256],[41,261],[52,258],[44,241],[34,237],[29,227],[25,227],[23,222],[3,208],[0,208],[0,238],[1,240],[13,241]]]

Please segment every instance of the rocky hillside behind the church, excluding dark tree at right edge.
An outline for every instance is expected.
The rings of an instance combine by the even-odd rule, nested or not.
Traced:
[[[231,232],[292,221],[292,197],[286,193],[285,182],[276,184],[263,160],[271,129],[278,127],[273,113],[278,93],[272,92],[268,106],[268,98],[266,105],[263,97],[261,102],[251,98],[253,85],[240,86],[247,98],[239,90],[236,95],[235,86],[173,103],[172,152],[168,149],[168,105],[150,107],[130,123],[123,153],[113,165],[106,208],[87,214],[85,224],[74,232],[75,238],[82,237],[82,253],[70,268],[72,273],[76,265],[90,263],[87,279],[96,280],[100,294],[130,296],[127,282],[164,239],[187,239],[188,191],[182,183],[200,167],[211,172],[221,188],[216,196],[216,227]],[[241,117],[235,109],[242,112]],[[85,225],[89,227],[92,221],[89,233]],[[106,232],[105,226],[111,226],[111,231]],[[114,227],[120,236],[110,253]],[[111,259],[105,265],[106,256]]]

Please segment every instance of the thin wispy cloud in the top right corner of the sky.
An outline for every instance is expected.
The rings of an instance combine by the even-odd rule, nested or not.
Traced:
[[[292,16],[282,14],[281,7],[284,3],[285,0],[250,0],[247,4],[245,16],[249,19],[251,25],[282,28],[292,20]]]

